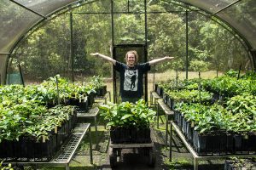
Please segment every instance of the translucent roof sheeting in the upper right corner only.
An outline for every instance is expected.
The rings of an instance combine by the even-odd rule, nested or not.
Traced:
[[[250,51],[256,50],[255,0],[178,0],[201,8],[230,25],[247,41]]]

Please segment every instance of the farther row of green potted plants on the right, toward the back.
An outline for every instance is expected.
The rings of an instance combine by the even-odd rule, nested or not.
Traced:
[[[242,77],[237,78],[236,71],[230,71],[222,77],[215,77],[213,79],[191,79],[191,80],[167,80],[166,82],[159,82],[155,86],[155,91],[162,97],[163,92],[179,91],[181,89],[199,89],[201,91],[208,91],[213,93],[214,97],[218,99],[228,99],[235,95],[256,94],[256,76],[254,72],[248,72]],[[215,99],[216,100],[216,99]]]

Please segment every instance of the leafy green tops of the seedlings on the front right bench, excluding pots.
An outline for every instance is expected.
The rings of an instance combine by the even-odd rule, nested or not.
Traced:
[[[188,122],[195,123],[195,130],[207,133],[213,130],[224,130],[247,134],[256,132],[256,123],[252,117],[243,113],[233,114],[222,105],[205,106],[201,104],[178,103],[180,111]]]

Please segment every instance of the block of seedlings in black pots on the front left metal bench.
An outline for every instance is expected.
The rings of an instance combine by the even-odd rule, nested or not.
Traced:
[[[70,105],[49,110],[38,106],[30,115],[22,114],[26,106],[19,106],[20,111],[12,107],[0,111],[0,157],[49,160],[75,126],[76,111]]]

